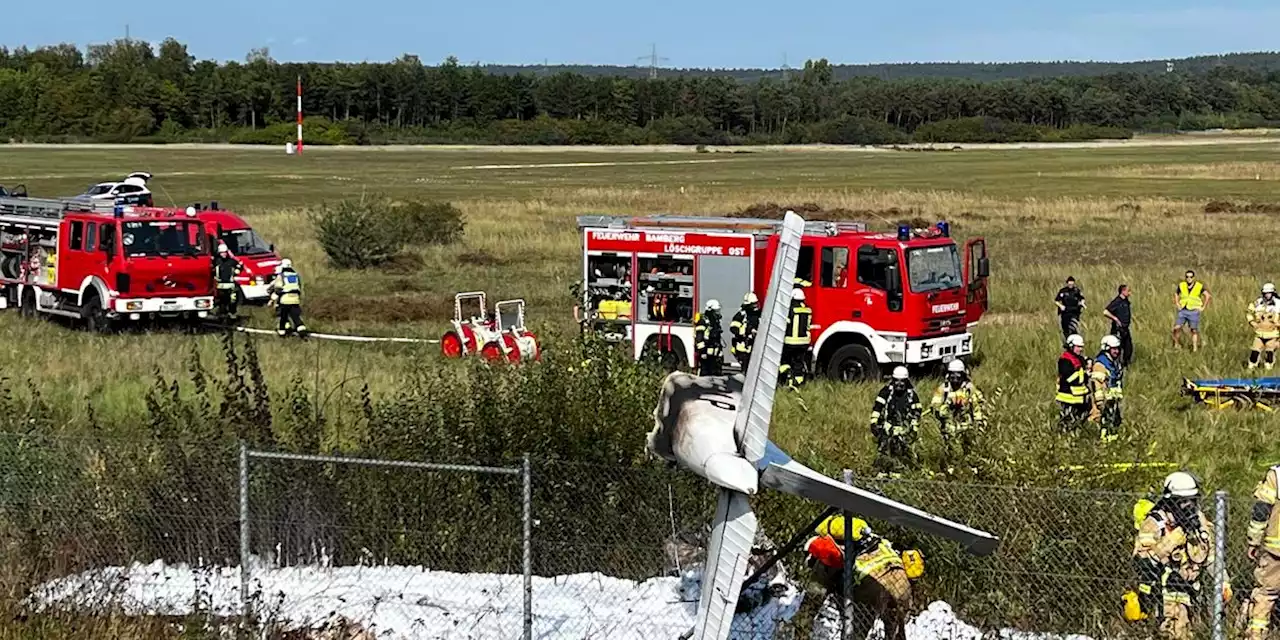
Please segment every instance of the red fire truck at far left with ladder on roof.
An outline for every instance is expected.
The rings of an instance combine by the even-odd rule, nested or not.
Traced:
[[[201,319],[212,259],[200,220],[111,202],[0,197],[0,306],[108,330],[119,319]]]

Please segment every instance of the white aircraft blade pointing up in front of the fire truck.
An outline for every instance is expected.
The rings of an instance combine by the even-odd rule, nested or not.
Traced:
[[[786,338],[787,315],[791,307],[791,289],[796,264],[800,261],[800,236],[804,218],[787,211],[778,234],[777,256],[769,275],[769,292],[760,307],[760,328],[751,346],[751,364],[746,367],[742,404],[733,421],[733,433],[742,447],[742,457],[753,465],[764,456],[769,440],[769,419],[773,415],[773,394],[782,366],[782,342]]]

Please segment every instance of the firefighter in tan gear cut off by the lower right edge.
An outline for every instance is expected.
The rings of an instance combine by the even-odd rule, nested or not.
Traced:
[[[1253,561],[1253,580],[1258,586],[1253,588],[1244,605],[1249,621],[1245,637],[1249,640],[1267,636],[1271,611],[1276,598],[1280,598],[1280,509],[1275,508],[1277,486],[1280,466],[1274,466],[1253,489],[1253,513],[1245,540],[1249,559]]]

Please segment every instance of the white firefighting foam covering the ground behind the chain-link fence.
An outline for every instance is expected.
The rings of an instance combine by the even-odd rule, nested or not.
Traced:
[[[675,639],[692,627],[698,570],[681,577],[622,580],[603,573],[534,577],[534,637]],[[733,621],[735,640],[769,639],[795,617],[804,591],[778,576],[782,595]],[[29,604],[76,611],[119,608],[133,616],[184,616],[198,602],[215,616],[238,616],[238,567],[191,568],[164,562],[87,571],[37,588]],[[288,630],[320,628],[334,620],[360,625],[379,639],[518,637],[524,579],[506,573],[453,573],[424,567],[255,568],[250,591],[259,614]],[[801,637],[824,640],[829,630]],[[838,634],[837,634],[838,635]],[[868,635],[883,637],[883,625]],[[1002,628],[983,631],[945,602],[933,602],[906,626],[908,640],[1092,640]]]

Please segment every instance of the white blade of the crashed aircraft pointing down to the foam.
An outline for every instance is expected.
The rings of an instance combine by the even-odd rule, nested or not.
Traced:
[[[755,513],[746,495],[727,489],[718,493],[698,598],[698,620],[691,634],[695,640],[728,637],[755,541]]]

